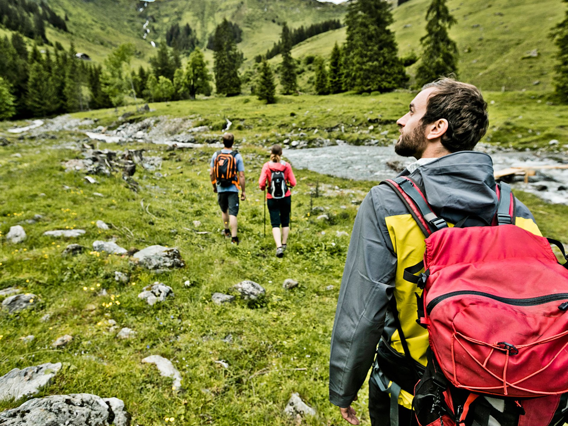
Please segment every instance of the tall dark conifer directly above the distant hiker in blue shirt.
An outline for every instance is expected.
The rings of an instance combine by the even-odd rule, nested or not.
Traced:
[[[227,19],[223,19],[223,22],[216,28],[214,45],[215,63],[213,70],[217,93],[227,96],[238,95],[241,93],[239,67],[243,61],[243,55],[237,49],[231,24]]]

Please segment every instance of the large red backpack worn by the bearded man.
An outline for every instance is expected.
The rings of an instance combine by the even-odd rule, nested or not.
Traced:
[[[493,223],[465,228],[470,216],[448,227],[410,178],[385,183],[427,237],[423,263],[404,272],[422,289],[417,321],[429,336],[428,364],[412,403],[418,423],[562,425],[568,415],[568,263],[558,263],[549,243],[568,260],[562,244],[515,225],[515,198],[506,183],[496,188]]]

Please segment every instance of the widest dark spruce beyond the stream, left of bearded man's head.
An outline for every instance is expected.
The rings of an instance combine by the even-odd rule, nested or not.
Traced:
[[[408,76],[398,57],[394,33],[389,30],[392,22],[391,5],[385,0],[349,3],[345,17],[346,88],[358,93],[385,92],[406,84]]]

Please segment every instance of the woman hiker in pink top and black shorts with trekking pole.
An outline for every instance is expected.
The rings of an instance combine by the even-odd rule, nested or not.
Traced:
[[[296,178],[290,163],[281,160],[282,147],[273,145],[270,150],[270,161],[265,162],[260,172],[258,186],[268,189],[266,203],[270,212],[272,235],[276,243],[276,257],[284,256],[286,241],[290,233],[290,187],[296,186]],[[282,225],[282,233],[280,232]]]

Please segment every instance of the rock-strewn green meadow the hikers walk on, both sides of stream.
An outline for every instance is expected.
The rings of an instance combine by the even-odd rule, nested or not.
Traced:
[[[491,116],[499,122],[520,115],[518,105],[525,100],[521,97],[530,94],[486,96],[496,100]],[[80,157],[80,153],[53,145],[81,139],[80,133],[62,132],[56,141],[11,138],[14,144],[0,147],[0,191],[5,194],[0,199],[0,231],[5,235],[11,225],[37,213],[45,219],[34,225],[24,223],[28,233],[24,243],[0,245],[0,288],[16,285],[41,299],[35,311],[19,317],[0,315],[0,373],[41,362],[65,362],[64,370],[40,396],[63,392],[118,396],[133,415],[132,424],[157,425],[172,416],[176,418],[174,424],[188,425],[290,424],[281,411],[293,391],[300,392],[318,410],[318,416],[305,424],[341,424],[339,412],[327,402],[327,363],[349,241],[336,237],[335,231],[350,233],[356,215],[351,201],[361,200],[374,183],[296,170],[299,185],[294,195],[290,249],[283,260],[278,260],[273,256],[270,237],[262,235],[262,193],[254,181],[266,154],[258,145],[273,143],[274,131],[290,131],[293,122],[304,128],[323,128],[338,121],[353,123],[353,118],[356,124],[364,123],[367,116],[376,117],[378,113],[384,119],[394,119],[411,98],[410,93],[377,98],[344,94],[283,97],[281,103],[268,106],[250,97],[245,98],[249,99],[247,103],[243,98],[216,98],[151,105],[157,108],[153,115],[199,116],[200,121],[215,124],[226,114],[235,126],[252,126],[236,131],[239,139],[248,140],[239,147],[249,179],[248,201],[241,203],[239,216],[243,238],[239,247],[228,244],[217,232],[220,216],[207,174],[213,149],[166,152],[157,145],[145,145],[143,148],[155,151],[149,154],[164,157],[161,173],[168,176],[157,180],[153,173],[137,170],[140,192],[135,194],[118,176],[97,177],[101,185],[91,186],[82,179],[83,174],[63,172],[60,161]],[[566,118],[559,107],[536,102],[529,105],[531,114],[542,118],[542,126],[561,121],[546,122],[547,116],[564,114],[561,118]],[[297,115],[292,117],[290,112]],[[104,124],[115,120],[116,113],[101,110],[77,116],[93,116]],[[2,129],[7,125],[2,123]],[[385,128],[394,131],[392,125]],[[265,138],[268,140],[263,142]],[[22,158],[11,157],[16,152]],[[308,215],[309,194],[318,181],[320,185],[356,191],[353,196],[332,191],[312,200],[314,206],[329,207],[329,223]],[[64,189],[64,185],[70,189]],[[93,196],[93,191],[105,198]],[[39,197],[40,193],[45,196]],[[568,240],[564,220],[567,206],[549,206],[532,195],[517,196],[532,209],[545,235]],[[141,208],[141,202],[149,204],[153,216]],[[347,208],[340,208],[342,205]],[[99,231],[93,223],[98,219],[116,228]],[[193,220],[200,220],[199,229],[211,233],[197,235],[186,230],[194,228]],[[87,233],[73,240],[42,235],[48,229],[67,226],[86,229]],[[113,235],[126,248],[175,245],[187,266],[156,275],[134,268],[127,258],[118,256],[97,256],[88,251],[76,258],[60,256],[70,242],[90,247],[94,240]],[[115,270],[130,272],[130,282],[116,283]],[[285,278],[297,279],[300,287],[284,291],[281,283]],[[183,285],[187,279],[189,288]],[[253,279],[266,287],[268,296],[260,306],[237,301],[233,306],[218,307],[210,302],[214,291],[225,292],[241,279]],[[157,280],[172,286],[176,297],[148,307],[137,294],[141,287]],[[325,290],[328,285],[335,287]],[[99,288],[107,289],[108,295],[98,296]],[[103,307],[109,302],[112,306]],[[47,312],[52,314],[51,319],[42,323],[40,318]],[[116,320],[119,327],[135,329],[137,337],[116,340],[106,332],[104,321],[108,319]],[[73,342],[64,349],[52,349],[51,342],[65,333],[74,336]],[[232,344],[221,340],[228,333],[233,336]],[[29,334],[36,336],[32,343],[19,340]],[[140,364],[150,354],[173,360],[182,373],[185,392],[174,392],[170,379],[160,377],[153,366]],[[216,360],[227,361],[229,368],[223,369]],[[298,368],[306,370],[295,370]],[[0,410],[20,403],[0,403]],[[366,403],[366,390],[362,390],[355,404],[357,411],[365,413]],[[368,422],[366,414],[363,417]]]

